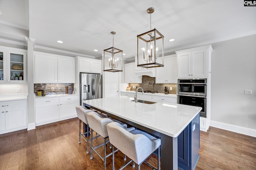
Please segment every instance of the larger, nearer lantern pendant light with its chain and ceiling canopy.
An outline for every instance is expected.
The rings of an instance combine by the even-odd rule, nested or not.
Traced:
[[[154,12],[154,8],[148,8],[147,12],[150,14],[150,31],[137,35],[137,66],[144,68],[163,67],[164,35],[156,28],[151,30],[151,14]],[[162,63],[156,63],[156,58],[159,54],[162,54]]]

